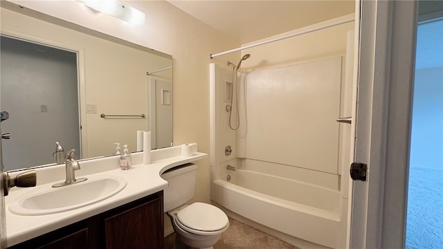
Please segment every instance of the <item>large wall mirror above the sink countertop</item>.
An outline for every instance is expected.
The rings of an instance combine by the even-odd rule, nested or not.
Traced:
[[[10,99],[19,100],[16,102],[27,111],[10,111],[9,120],[1,124],[3,133],[10,133],[10,140],[3,140],[6,170],[54,165],[55,142],[60,142],[65,152],[76,149],[76,157],[82,159],[112,155],[116,142],[120,143],[122,152],[123,145],[128,145],[129,151],[137,151],[138,130],[152,131],[152,149],[172,145],[171,55],[54,20],[8,2],[1,4],[1,34],[8,39],[33,42],[32,49],[21,49],[22,52],[45,54],[49,48],[67,52],[77,67],[74,72],[60,68],[45,75],[42,69],[32,74],[31,69],[21,68],[21,63],[8,68],[12,75],[8,78],[9,84],[18,88],[20,94],[15,93]],[[8,103],[3,102],[8,99],[3,97],[8,95],[3,91],[6,74],[1,72],[1,111],[8,111]],[[59,78],[47,80],[47,75]],[[67,77],[78,85],[60,90],[59,86],[67,84]],[[53,85],[46,84],[49,81],[53,81]],[[31,87],[32,84],[35,87]],[[37,92],[42,95],[34,100]],[[56,101],[67,100],[72,100],[77,109],[58,110],[61,104]],[[75,132],[72,128],[68,131],[68,124],[74,129],[77,127],[75,138],[63,138],[63,133]]]

